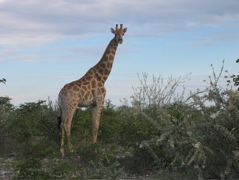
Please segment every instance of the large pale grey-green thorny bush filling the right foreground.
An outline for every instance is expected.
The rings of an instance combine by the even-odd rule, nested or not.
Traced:
[[[222,71],[217,76],[213,69],[209,86],[184,101],[155,105],[145,103],[145,95],[151,92],[141,93],[144,98],[137,96],[135,114],[145,117],[160,132],[135,147],[145,162],[150,157],[152,167],[180,172],[186,178],[239,177],[239,97],[237,92],[219,86]]]

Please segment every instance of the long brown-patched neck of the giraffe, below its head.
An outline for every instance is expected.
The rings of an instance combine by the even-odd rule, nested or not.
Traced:
[[[105,83],[111,72],[117,47],[118,43],[113,38],[108,44],[101,60],[93,67],[103,83]]]

